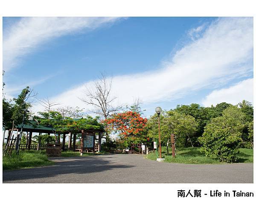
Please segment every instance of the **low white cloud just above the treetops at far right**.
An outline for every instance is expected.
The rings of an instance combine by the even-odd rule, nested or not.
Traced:
[[[202,104],[216,106],[218,103],[226,102],[236,105],[242,100],[253,103],[253,78],[243,80],[229,88],[212,91],[202,101]]]

